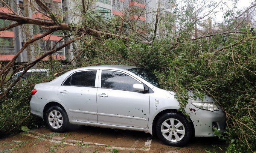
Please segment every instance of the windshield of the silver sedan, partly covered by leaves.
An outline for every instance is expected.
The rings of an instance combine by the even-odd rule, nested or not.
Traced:
[[[155,75],[152,74],[151,72],[147,71],[146,69],[143,69],[143,68],[133,68],[133,69],[128,69],[128,71],[136,74],[140,78],[143,78],[144,80],[148,81],[149,83],[151,83],[155,87],[160,88],[160,85],[159,85],[158,80],[155,77]]]

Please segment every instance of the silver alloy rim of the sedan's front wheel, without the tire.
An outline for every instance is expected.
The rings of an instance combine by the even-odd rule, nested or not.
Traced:
[[[181,121],[175,118],[168,118],[161,125],[161,132],[164,138],[171,142],[178,142],[184,138],[185,127]]]

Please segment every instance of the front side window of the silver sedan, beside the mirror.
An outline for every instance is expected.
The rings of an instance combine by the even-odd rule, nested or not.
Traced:
[[[133,84],[139,83],[134,78],[115,71],[102,71],[101,87],[133,91]]]

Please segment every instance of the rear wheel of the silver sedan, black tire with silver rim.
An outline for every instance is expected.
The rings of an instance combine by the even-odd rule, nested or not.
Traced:
[[[47,110],[46,123],[53,132],[63,132],[66,130],[69,120],[61,107],[52,106]]]

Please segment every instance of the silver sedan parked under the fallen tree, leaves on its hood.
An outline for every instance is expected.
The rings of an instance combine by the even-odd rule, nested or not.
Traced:
[[[213,127],[224,131],[226,123],[225,113],[208,96],[203,102],[189,99],[187,119],[178,111],[175,93],[160,89],[153,74],[134,66],[74,69],[36,84],[31,93],[31,113],[54,132],[70,124],[138,130],[181,146],[192,136],[214,136]]]

